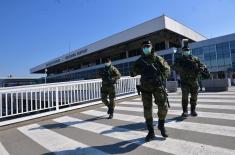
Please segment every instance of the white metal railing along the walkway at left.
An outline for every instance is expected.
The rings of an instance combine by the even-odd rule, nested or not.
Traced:
[[[87,104],[101,97],[101,79],[19,86],[0,89],[0,121],[22,116],[60,112],[71,106]],[[136,93],[139,77],[122,77],[116,95]]]

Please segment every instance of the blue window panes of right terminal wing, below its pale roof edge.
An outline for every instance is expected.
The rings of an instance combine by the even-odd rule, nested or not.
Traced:
[[[235,41],[222,42],[192,49],[211,72],[235,70]]]

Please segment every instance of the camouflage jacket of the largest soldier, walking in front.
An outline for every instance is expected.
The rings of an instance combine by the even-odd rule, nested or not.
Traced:
[[[170,66],[160,56],[141,56],[133,66],[135,75],[141,75],[142,86],[159,86],[170,75]]]

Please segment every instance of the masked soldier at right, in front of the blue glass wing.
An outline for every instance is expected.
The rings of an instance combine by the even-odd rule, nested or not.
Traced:
[[[188,48],[188,40],[182,40],[182,51],[177,52],[173,69],[180,75],[182,90],[182,117],[188,117],[188,96],[191,94],[191,115],[197,116],[196,105],[198,95],[198,75],[209,78],[210,74],[206,66],[200,60],[192,56],[191,50]]]

